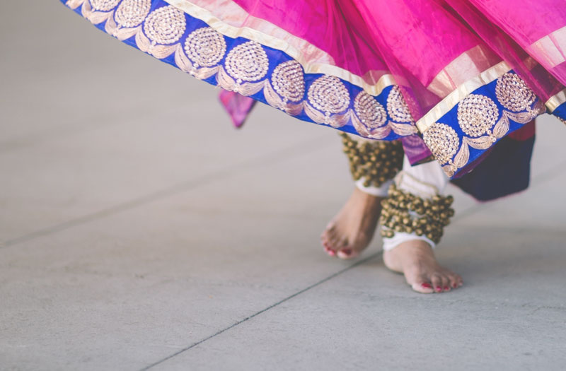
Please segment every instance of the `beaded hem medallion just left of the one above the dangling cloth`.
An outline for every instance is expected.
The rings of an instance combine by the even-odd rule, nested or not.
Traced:
[[[224,57],[226,41],[213,28],[198,28],[187,36],[185,53],[195,67],[212,67]]]

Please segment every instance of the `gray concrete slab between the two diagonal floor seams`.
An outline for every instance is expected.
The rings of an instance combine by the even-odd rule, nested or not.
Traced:
[[[328,163],[326,151],[309,155]],[[1,249],[0,358],[34,370],[141,368],[344,269],[323,254],[326,218],[313,207],[337,188],[302,187],[310,168],[287,162]]]

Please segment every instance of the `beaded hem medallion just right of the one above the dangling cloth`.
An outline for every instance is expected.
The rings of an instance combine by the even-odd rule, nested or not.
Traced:
[[[271,83],[277,94],[285,100],[299,102],[305,94],[305,80],[298,61],[286,61],[275,67]]]

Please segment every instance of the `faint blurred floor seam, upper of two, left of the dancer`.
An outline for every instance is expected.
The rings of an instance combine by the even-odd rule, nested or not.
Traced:
[[[59,223],[57,225],[52,225],[47,228],[43,228],[40,230],[35,230],[33,232],[27,233],[25,235],[21,235],[16,238],[12,238],[11,240],[6,240],[4,242],[0,241],[0,249],[3,247],[11,247],[13,245],[18,245],[21,242],[25,242],[28,240],[33,240],[37,237],[42,237],[45,235],[51,235],[55,232],[60,232],[62,230],[67,230],[72,228],[76,225],[81,225],[84,223],[88,223],[92,220],[97,220],[100,218],[104,218],[105,216],[110,216],[115,213],[120,213],[122,211],[127,211],[132,208],[136,208],[138,206],[143,206],[145,204],[149,204],[154,201],[159,201],[162,199],[166,199],[169,196],[174,196],[175,194],[180,194],[186,192],[190,189],[194,189],[196,187],[200,187],[203,184],[207,184],[209,182],[214,182],[215,180],[225,179],[227,177],[231,177],[234,174],[238,174],[238,172],[250,170],[251,168],[258,166],[258,165],[271,165],[277,161],[284,161],[289,158],[295,158],[297,155],[304,155],[306,153],[310,153],[311,151],[316,151],[322,148],[322,146],[312,146],[313,141],[318,141],[316,139],[309,139],[308,141],[302,141],[299,144],[294,146],[289,146],[287,148],[282,148],[279,151],[275,151],[272,153],[268,153],[267,155],[262,155],[260,157],[252,158],[250,160],[244,161],[243,163],[232,165],[226,167],[225,169],[218,170],[216,172],[212,172],[211,174],[203,175],[198,179],[191,179],[186,182],[181,182],[178,184],[173,185],[172,187],[168,187],[165,189],[158,190],[156,192],[152,192],[149,194],[145,194],[143,196],[139,196],[136,199],[132,199],[130,201],[122,202],[121,204],[117,204],[116,206],[111,206],[109,208],[105,208],[100,211],[96,211],[94,213],[89,213],[86,216],[81,216],[79,218],[74,218],[71,220],[67,220],[66,222]],[[302,150],[302,151],[300,151]],[[287,155],[286,155],[287,154]]]

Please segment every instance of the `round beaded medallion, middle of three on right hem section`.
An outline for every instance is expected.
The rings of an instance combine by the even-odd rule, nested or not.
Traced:
[[[458,104],[458,124],[473,138],[486,134],[498,118],[497,105],[485,95],[469,94]]]

